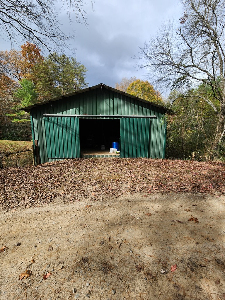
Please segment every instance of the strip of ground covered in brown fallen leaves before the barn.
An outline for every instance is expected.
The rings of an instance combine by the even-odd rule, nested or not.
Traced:
[[[86,197],[156,192],[225,192],[225,164],[161,159],[70,159],[0,170],[0,205],[33,207]]]

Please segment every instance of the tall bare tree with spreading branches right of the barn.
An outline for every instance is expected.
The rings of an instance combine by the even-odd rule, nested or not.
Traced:
[[[141,49],[142,67],[151,69],[161,87],[198,82],[210,89],[198,97],[218,113],[213,142],[216,149],[225,135],[225,6],[223,0],[181,0],[180,22],[165,23]],[[214,101],[220,102],[217,110]]]

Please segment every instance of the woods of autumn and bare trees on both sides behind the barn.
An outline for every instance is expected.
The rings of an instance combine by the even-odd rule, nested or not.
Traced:
[[[82,1],[72,2],[80,7],[76,12],[85,22]],[[124,77],[115,87],[170,109],[160,120],[167,122],[167,158],[223,160],[224,3],[180,2],[183,14],[179,22],[168,20],[140,47],[139,66],[146,68],[148,80]],[[46,36],[43,40],[41,35],[33,37],[33,41],[37,43],[26,42],[20,50],[0,51],[0,139],[31,140],[29,115],[21,107],[88,86],[87,69],[75,57],[48,48]],[[49,49],[49,55],[41,54],[40,45]]]

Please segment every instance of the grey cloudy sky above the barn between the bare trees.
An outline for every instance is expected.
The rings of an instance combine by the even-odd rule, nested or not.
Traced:
[[[92,10],[90,0],[85,0],[87,27],[76,22],[69,24],[66,13],[59,14],[62,30],[66,34],[76,31],[71,46],[76,49],[74,56],[88,69],[89,86],[102,82],[115,87],[122,77],[146,80],[146,70],[137,69],[134,57],[162,22],[180,18],[182,7],[178,0],[94,1]],[[10,49],[10,43],[2,42],[0,49]]]

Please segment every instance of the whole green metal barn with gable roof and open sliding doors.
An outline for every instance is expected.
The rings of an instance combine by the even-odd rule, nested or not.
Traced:
[[[31,114],[40,163],[165,157],[167,109],[102,83],[22,110]],[[113,142],[119,142],[119,154],[110,153]]]

